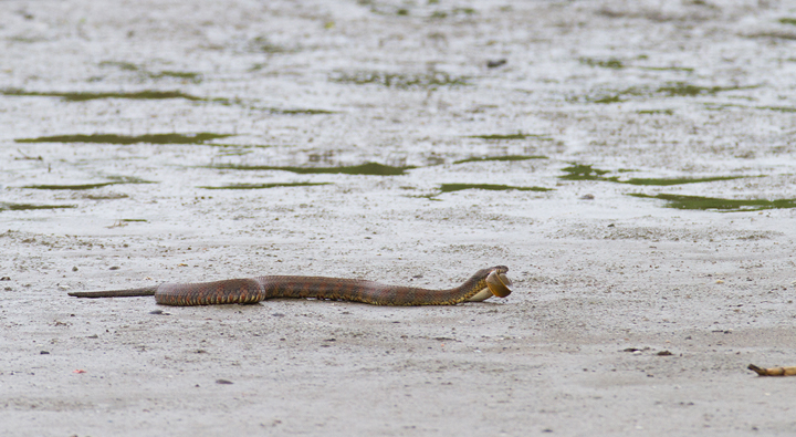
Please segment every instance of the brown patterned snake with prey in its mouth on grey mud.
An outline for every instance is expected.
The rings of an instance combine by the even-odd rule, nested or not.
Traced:
[[[493,295],[507,296],[513,285],[505,274],[509,268],[505,266],[481,269],[461,285],[447,290],[387,285],[364,279],[266,275],[213,282],[161,283],[126,290],[77,291],[69,295],[76,298],[154,295],[158,304],[176,306],[245,304],[279,298],[337,300],[395,306],[454,305],[461,302],[481,302]]]

